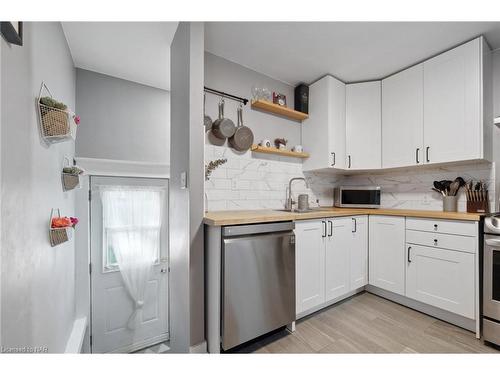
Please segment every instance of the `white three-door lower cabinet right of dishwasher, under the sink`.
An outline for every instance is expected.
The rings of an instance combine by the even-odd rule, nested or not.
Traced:
[[[296,314],[367,283],[367,216],[295,223]]]

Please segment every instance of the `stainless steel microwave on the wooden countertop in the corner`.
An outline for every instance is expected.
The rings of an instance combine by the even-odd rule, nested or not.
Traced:
[[[333,198],[335,207],[379,208],[380,186],[339,186]]]

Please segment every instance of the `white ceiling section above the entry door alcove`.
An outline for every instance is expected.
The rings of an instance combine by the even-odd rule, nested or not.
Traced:
[[[170,90],[177,22],[63,22],[77,68]]]

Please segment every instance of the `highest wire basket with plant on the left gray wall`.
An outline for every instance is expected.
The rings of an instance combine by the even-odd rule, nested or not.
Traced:
[[[53,99],[48,87],[42,82],[37,100],[42,139],[48,144],[75,140],[77,128],[75,114],[67,109],[43,104],[43,99],[48,98],[48,96],[42,96],[44,92],[47,92]]]

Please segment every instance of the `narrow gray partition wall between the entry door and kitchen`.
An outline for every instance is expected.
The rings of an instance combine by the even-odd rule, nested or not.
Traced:
[[[171,45],[171,345],[203,342],[203,23],[181,22]],[[187,188],[181,174],[187,175]],[[189,299],[188,299],[189,296]]]

